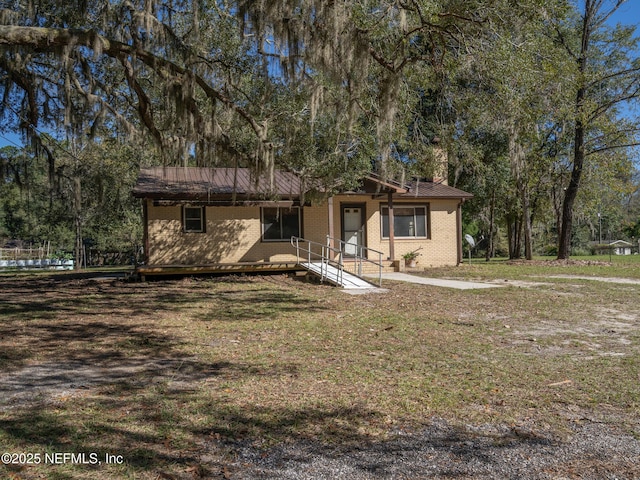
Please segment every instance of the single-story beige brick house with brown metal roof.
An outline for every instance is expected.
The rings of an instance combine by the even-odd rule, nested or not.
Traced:
[[[345,259],[356,246],[382,252],[385,268],[411,251],[423,268],[463,260],[461,207],[472,195],[446,181],[370,175],[357,190],[315,202],[302,191],[285,171],[268,179],[243,168],[142,169],[133,194],[143,204],[146,266],[295,262],[292,236],[340,246]]]

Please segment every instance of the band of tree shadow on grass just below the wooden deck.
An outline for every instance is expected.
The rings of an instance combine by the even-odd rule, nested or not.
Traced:
[[[240,288],[224,288],[226,285]],[[22,321],[64,321],[75,316],[91,319],[104,315],[113,320],[135,319],[155,312],[181,312],[207,301],[215,307],[201,314],[202,320],[247,320],[321,309],[298,289],[265,287],[259,279],[247,276],[138,284],[76,276],[0,279],[0,317]],[[0,328],[6,325],[7,322]]]

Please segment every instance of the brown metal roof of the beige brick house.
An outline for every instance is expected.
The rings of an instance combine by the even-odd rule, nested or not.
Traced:
[[[414,180],[400,185],[368,175],[358,194],[393,192],[397,199],[469,199],[473,195],[449,185]],[[225,203],[229,201],[299,200],[302,182],[295,174],[278,170],[273,186],[266,176],[256,178],[247,168],[152,167],[140,170],[133,195],[165,201]],[[355,193],[355,192],[354,192]]]

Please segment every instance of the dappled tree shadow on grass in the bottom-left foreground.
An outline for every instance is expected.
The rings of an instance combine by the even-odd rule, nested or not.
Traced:
[[[58,399],[38,405],[23,402],[14,410],[0,409],[0,439],[7,445],[21,445],[29,451],[97,452],[122,455],[131,471],[184,472],[193,465],[215,473],[221,464],[208,461],[212,452],[204,445],[223,436],[227,442],[251,438],[293,439],[299,428],[328,425],[329,436],[350,441],[362,438],[358,425],[369,414],[358,409],[238,407],[233,401],[211,400],[195,383],[216,376],[246,377],[286,375],[283,366],[269,372],[251,365],[221,363],[202,365],[165,361],[148,365],[137,381],[121,378],[119,372],[94,384],[82,370],[69,365],[69,374],[95,387],[87,397]],[[177,370],[179,368],[180,373]],[[60,372],[47,380],[59,382]],[[160,378],[156,383],[154,379]],[[70,379],[69,379],[70,380]],[[202,419],[204,417],[204,419]],[[228,446],[217,448],[216,458],[226,455]],[[229,461],[229,459],[227,459]],[[81,465],[78,470],[95,468]],[[0,472],[2,468],[0,467]],[[101,478],[101,477],[98,477]],[[173,477],[169,477],[173,478]],[[182,477],[176,477],[182,478]],[[206,477],[205,475],[205,478]]]

